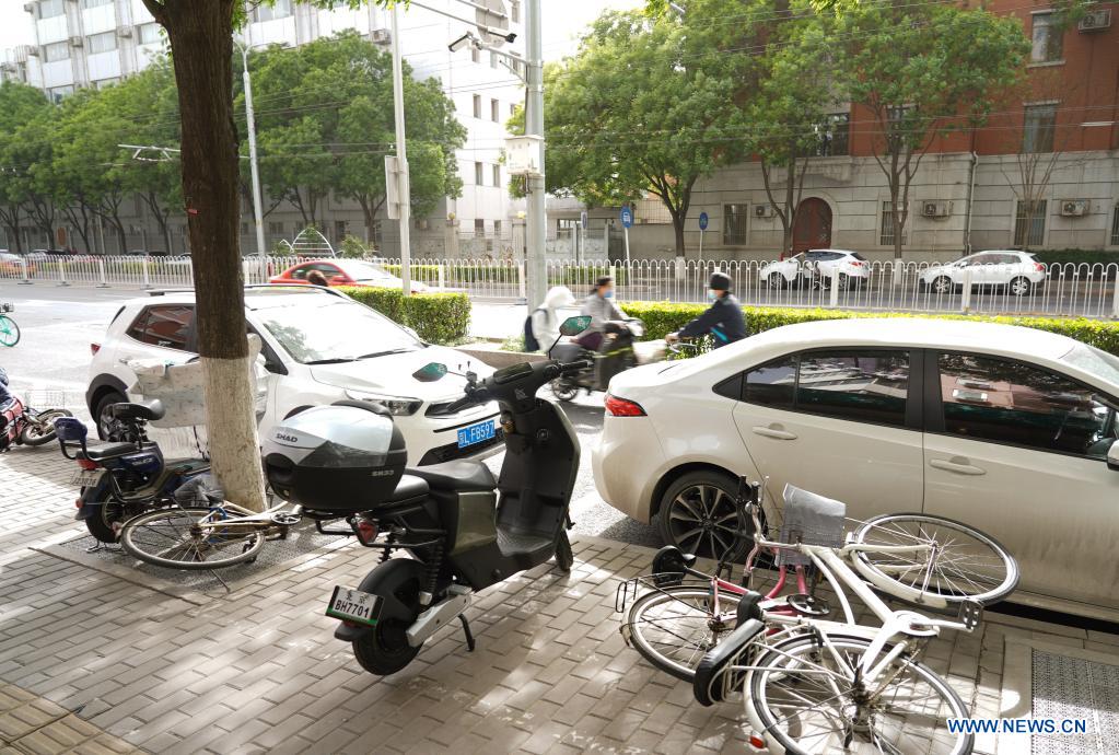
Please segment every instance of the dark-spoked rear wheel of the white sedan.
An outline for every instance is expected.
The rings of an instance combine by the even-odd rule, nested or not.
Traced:
[[[660,498],[660,537],[685,553],[722,561],[740,559],[753,541],[742,537],[747,522],[740,521],[735,510],[737,492],[737,481],[724,473],[700,470],[680,476]]]

